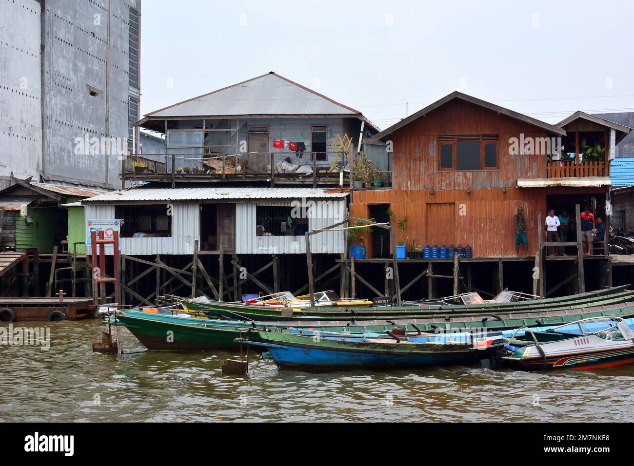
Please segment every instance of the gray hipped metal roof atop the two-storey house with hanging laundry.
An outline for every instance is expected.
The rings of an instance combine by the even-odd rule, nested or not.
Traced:
[[[226,115],[357,115],[307,87],[273,72],[165,107],[146,117],[213,117]]]

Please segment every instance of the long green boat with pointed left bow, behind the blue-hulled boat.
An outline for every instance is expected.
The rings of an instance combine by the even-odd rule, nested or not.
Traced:
[[[579,320],[580,318],[601,316],[631,316],[634,315],[634,302],[627,305],[614,304],[584,309],[560,309],[559,311],[545,311],[532,313],[501,313],[493,316],[482,314],[460,314],[451,321],[444,316],[427,316],[413,320],[365,320],[365,321],[299,321],[289,323],[228,321],[228,320],[197,320],[181,314],[150,314],[133,310],[119,311],[116,319],[125,325],[134,336],[148,349],[214,349],[235,347],[234,340],[245,337],[250,330],[250,339],[257,339],[255,330],[288,329],[290,332],[309,333],[346,332],[350,334],[394,332],[395,328],[410,335],[418,332],[452,332],[456,329],[507,330],[519,327],[543,327],[545,325],[560,325],[562,323]],[[110,322],[112,323],[112,322]],[[168,333],[172,332],[172,333]],[[173,335],[168,342],[166,335]]]

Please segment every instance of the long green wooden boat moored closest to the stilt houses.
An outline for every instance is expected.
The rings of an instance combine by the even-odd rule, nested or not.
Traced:
[[[230,318],[254,321],[299,321],[299,320],[368,320],[368,319],[413,319],[427,315],[451,315],[461,313],[503,313],[519,311],[547,311],[576,307],[607,306],[634,301],[634,291],[613,294],[583,294],[570,301],[525,301],[529,304],[500,303],[497,306],[426,306],[426,307],[354,307],[354,308],[271,308],[245,306],[227,302],[210,301],[207,307],[198,310],[212,318]],[[185,303],[185,306],[188,306]]]

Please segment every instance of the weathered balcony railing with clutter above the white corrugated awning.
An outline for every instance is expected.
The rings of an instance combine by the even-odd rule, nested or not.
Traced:
[[[320,160],[321,159],[321,160]],[[250,152],[235,154],[129,155],[122,177],[139,181],[270,181],[275,183],[349,184],[349,155],[331,152]],[[161,161],[163,160],[163,161]],[[136,164],[134,163],[136,162]],[[145,166],[135,166],[145,165]],[[343,176],[341,175],[343,174]],[[343,178],[343,180],[342,180]]]

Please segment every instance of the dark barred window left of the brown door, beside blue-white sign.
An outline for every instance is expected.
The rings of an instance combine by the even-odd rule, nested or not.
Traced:
[[[121,219],[121,238],[172,236],[172,216],[165,205],[115,205],[115,218]]]

